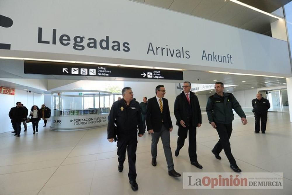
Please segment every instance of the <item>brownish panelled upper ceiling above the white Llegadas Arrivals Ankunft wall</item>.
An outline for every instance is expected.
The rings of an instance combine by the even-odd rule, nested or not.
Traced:
[[[215,22],[272,36],[270,24],[276,21],[263,13],[229,0],[131,0],[157,6]],[[262,11],[272,13],[291,0],[239,0]]]

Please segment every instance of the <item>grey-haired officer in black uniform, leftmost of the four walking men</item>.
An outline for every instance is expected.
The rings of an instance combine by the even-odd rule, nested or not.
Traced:
[[[136,150],[137,150],[137,129],[138,136],[142,137],[145,129],[143,129],[142,117],[139,102],[133,100],[133,91],[130,87],[122,90],[123,99],[113,103],[109,112],[109,123],[107,126],[107,139],[113,142],[117,136],[117,155],[119,156],[119,172],[124,169],[124,161],[126,160],[126,150],[128,148],[128,163],[131,188],[133,191],[138,190],[136,182]]]

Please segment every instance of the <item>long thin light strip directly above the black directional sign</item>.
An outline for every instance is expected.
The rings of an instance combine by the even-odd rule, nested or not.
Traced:
[[[128,65],[128,64],[108,64],[108,63],[97,63],[97,62],[86,62],[86,61],[69,61],[69,60],[53,60],[53,59],[38,59],[38,58],[18,58],[18,57],[4,57],[4,56],[0,56],[0,59],[63,62],[63,63],[73,63],[73,64],[93,64],[93,65],[122,66],[122,67],[145,68],[145,69],[156,69],[157,68],[157,69],[161,69],[161,70],[183,71],[183,69],[175,69],[175,68],[137,66],[137,65]]]

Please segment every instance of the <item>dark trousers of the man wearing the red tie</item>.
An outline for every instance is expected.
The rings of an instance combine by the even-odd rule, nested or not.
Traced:
[[[197,161],[197,127],[187,126],[186,128],[178,126],[178,146],[177,150],[183,148],[185,144],[185,139],[187,138],[187,132],[189,132],[189,157],[190,161]]]

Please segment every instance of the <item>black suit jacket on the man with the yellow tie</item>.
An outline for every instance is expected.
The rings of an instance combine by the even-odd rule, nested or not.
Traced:
[[[146,125],[147,130],[153,129],[155,132],[161,131],[162,120],[166,129],[172,128],[172,122],[168,107],[168,101],[165,98],[162,98],[163,101],[163,111],[161,113],[160,107],[158,105],[156,96],[150,98],[147,102],[146,107]]]

